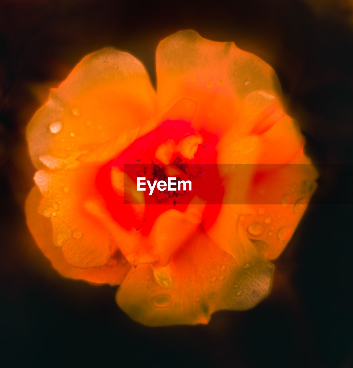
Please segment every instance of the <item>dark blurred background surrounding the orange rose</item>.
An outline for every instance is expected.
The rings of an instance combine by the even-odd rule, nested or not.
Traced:
[[[209,4],[0,1],[1,367],[353,367],[353,3]],[[190,28],[271,64],[321,176],[266,300],[208,325],[148,328],[120,311],[116,287],[64,279],[37,248],[25,134],[86,54],[128,51],[155,83],[159,40]]]

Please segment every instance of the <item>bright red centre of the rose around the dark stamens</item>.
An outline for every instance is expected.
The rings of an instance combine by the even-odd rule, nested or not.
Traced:
[[[171,208],[183,212],[197,196],[206,203],[202,218],[208,217],[205,226],[209,227],[218,215],[223,187],[216,164],[218,137],[205,131],[200,134],[202,138],[190,123],[183,120],[166,120],[105,164],[99,170],[96,185],[113,219],[126,229],[135,227],[147,235],[161,213]],[[125,175],[123,195],[112,184],[114,170]],[[187,187],[158,190],[155,186],[149,195],[150,189],[146,184],[146,191],[141,192],[142,200],[142,197],[129,196],[126,185],[128,178],[134,183],[136,194],[138,177],[150,183],[167,182],[168,177],[174,177],[177,181],[190,180],[193,190],[187,190]]]

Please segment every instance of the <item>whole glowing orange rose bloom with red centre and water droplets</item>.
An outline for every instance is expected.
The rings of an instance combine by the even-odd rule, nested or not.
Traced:
[[[121,284],[135,321],[207,323],[268,295],[316,171],[258,57],[182,31],[160,42],[156,74],[157,91],[140,61],[106,48],[52,89],[28,127],[27,223],[61,275]],[[156,191],[149,204],[124,164],[147,179],[216,170],[198,195]]]

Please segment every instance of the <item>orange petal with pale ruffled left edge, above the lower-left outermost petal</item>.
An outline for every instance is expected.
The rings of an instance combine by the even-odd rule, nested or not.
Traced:
[[[35,181],[43,194],[39,213],[51,219],[53,240],[71,266],[91,268],[105,265],[116,249],[110,234],[87,212],[85,202],[97,196],[98,168],[83,165],[71,170],[40,170]],[[85,183],[85,185],[82,185]]]

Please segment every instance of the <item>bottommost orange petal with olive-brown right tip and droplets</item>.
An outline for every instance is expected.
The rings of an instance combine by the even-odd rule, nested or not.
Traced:
[[[238,245],[246,253],[247,246]],[[117,303],[149,326],[207,323],[219,309],[251,308],[268,294],[273,265],[256,251],[242,260],[238,265],[198,231],[166,267],[131,269],[119,287]]]

